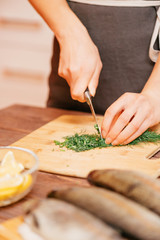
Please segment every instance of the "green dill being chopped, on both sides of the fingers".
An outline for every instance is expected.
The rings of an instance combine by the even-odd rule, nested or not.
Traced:
[[[97,126],[94,126],[97,130]],[[97,130],[98,132],[98,130]],[[153,131],[145,131],[141,136],[133,140],[127,145],[136,145],[140,142],[160,142],[160,134]],[[83,152],[94,148],[111,147],[112,144],[106,144],[105,139],[101,139],[99,132],[96,134],[74,134],[73,136],[64,137],[64,141],[54,140],[56,145],[60,148],[66,147],[67,149],[75,152]]]

